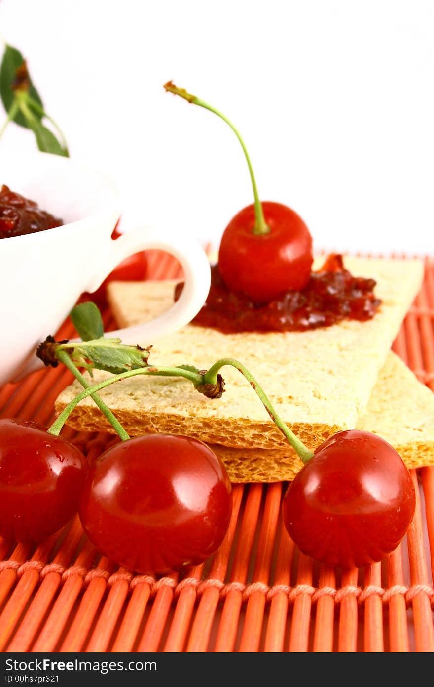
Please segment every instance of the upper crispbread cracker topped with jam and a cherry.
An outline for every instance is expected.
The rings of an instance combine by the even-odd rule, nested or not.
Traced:
[[[420,289],[420,260],[370,260],[346,257],[354,275],[376,280],[382,305],[372,320],[348,320],[307,332],[225,335],[216,330],[186,326],[153,344],[155,365],[190,364],[208,368],[217,359],[235,357],[263,385],[276,411],[312,449],[326,437],[355,427],[394,337]],[[108,298],[119,325],[151,319],[167,309],[176,282],[112,282]],[[278,449],[286,440],[267,415],[250,384],[233,368],[222,370],[226,392],[212,401],[198,394],[184,379],[136,376],[107,387],[101,398],[131,435],[175,432],[210,444],[242,449]],[[107,376],[95,372],[98,381]],[[74,383],[60,394],[60,411],[80,391]],[[69,417],[77,429],[109,429],[90,398]]]

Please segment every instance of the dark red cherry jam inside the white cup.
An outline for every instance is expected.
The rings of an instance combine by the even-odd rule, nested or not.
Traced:
[[[37,203],[3,185],[0,190],[0,238],[22,236],[60,227],[63,222]]]

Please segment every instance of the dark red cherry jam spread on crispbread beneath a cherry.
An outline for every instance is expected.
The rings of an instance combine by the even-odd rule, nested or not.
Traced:
[[[328,256],[313,271],[301,291],[287,291],[267,304],[255,304],[233,293],[221,278],[218,265],[211,267],[211,286],[206,303],[192,324],[238,332],[289,332],[329,327],[342,319],[372,319],[381,304],[374,295],[374,279],[354,277],[343,267],[339,254]],[[175,300],[182,291],[177,284]]]

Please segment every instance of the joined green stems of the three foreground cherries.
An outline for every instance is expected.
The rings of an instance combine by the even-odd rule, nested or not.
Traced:
[[[58,357],[60,359],[60,356],[62,356],[62,362],[67,364],[68,366],[71,364],[73,365],[71,359],[69,356],[64,353],[64,352],[59,352]],[[67,359],[64,359],[64,357]],[[152,366],[152,368],[137,368],[136,370],[128,370],[127,372],[121,372],[121,374],[114,374],[113,376],[109,377],[108,379],[104,379],[101,382],[95,384],[94,386],[88,385],[88,382],[84,377],[82,378],[84,383],[87,385],[87,387],[84,389],[84,391],[81,394],[78,394],[73,398],[72,401],[68,403],[68,405],[62,410],[58,418],[54,421],[53,425],[51,425],[49,432],[51,434],[56,434],[58,435],[64,425],[64,423],[67,421],[69,418],[71,412],[73,412],[73,409],[75,406],[80,403],[80,401],[83,400],[83,398],[86,398],[87,396],[92,396],[93,400],[95,403],[97,403],[98,407],[104,412],[104,409],[101,408],[101,403],[111,414],[111,411],[107,408],[107,406],[101,401],[101,398],[98,396],[94,397],[94,394],[96,392],[99,392],[101,389],[104,389],[104,387],[109,386],[110,384],[114,384],[118,381],[121,381],[122,379],[128,379],[129,377],[134,377],[137,374],[149,374],[151,376],[170,376],[170,377],[175,377],[175,376],[181,376],[184,377],[184,379],[188,379],[191,381],[195,387],[200,386],[202,384],[216,384],[217,383],[217,374],[221,368],[224,367],[224,365],[231,365],[233,368],[236,368],[243,376],[245,376],[245,379],[250,382],[250,385],[256,392],[258,398],[260,401],[263,403],[265,409],[267,410],[269,416],[272,418],[273,422],[275,425],[280,429],[282,432],[283,436],[287,439],[289,444],[293,447],[293,449],[296,451],[298,454],[299,458],[302,460],[303,463],[308,462],[312,456],[313,452],[310,451],[301,441],[296,437],[296,435],[289,429],[289,427],[283,422],[283,420],[278,416],[276,411],[274,410],[274,407],[269,401],[269,398],[266,396],[265,392],[263,391],[261,385],[258,384],[256,379],[254,379],[254,376],[250,374],[249,370],[245,368],[245,366],[240,363],[238,360],[235,360],[234,358],[222,358],[221,360],[217,361],[217,363],[214,363],[212,367],[206,372],[205,374],[200,374],[200,372],[193,372],[192,370],[185,370],[184,368],[165,368],[165,367],[156,367]],[[73,365],[75,367],[75,365]],[[71,370],[71,367],[69,366],[69,369]],[[73,371],[73,370],[72,370]],[[77,370],[78,372],[78,370]],[[75,373],[74,373],[75,374]],[[78,373],[80,374],[80,372]],[[80,375],[81,376],[81,375]],[[82,383],[81,379],[77,377],[78,381]],[[82,383],[84,386],[84,384]],[[104,415],[110,420],[106,412],[104,412]],[[113,416],[114,417],[114,416]],[[114,418],[116,420],[116,418]],[[110,420],[110,423],[116,429],[117,433],[119,436],[121,434],[119,433],[117,427],[114,426],[112,421]],[[116,423],[121,427],[120,423],[116,420]],[[125,430],[121,427],[122,431],[125,432]],[[125,432],[126,434],[126,432]],[[121,438],[123,438],[121,436]],[[129,438],[128,435],[125,438]]]

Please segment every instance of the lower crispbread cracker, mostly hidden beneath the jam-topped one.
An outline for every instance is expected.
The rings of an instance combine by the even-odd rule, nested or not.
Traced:
[[[434,394],[394,353],[378,374],[357,429],[383,437],[409,469],[434,464]],[[231,449],[210,445],[224,462],[231,482],[286,482],[302,468],[296,451]]]

